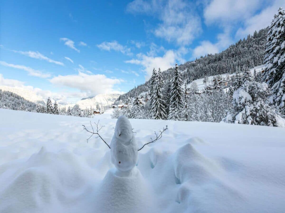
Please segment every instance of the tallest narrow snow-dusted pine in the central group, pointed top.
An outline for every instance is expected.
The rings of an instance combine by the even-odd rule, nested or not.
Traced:
[[[177,63],[175,64],[172,76],[172,84],[170,91],[169,120],[179,120],[182,103],[183,89],[182,78]]]

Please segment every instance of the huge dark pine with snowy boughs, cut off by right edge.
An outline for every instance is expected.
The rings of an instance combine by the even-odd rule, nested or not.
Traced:
[[[272,89],[273,104],[285,116],[285,11],[280,7],[267,34],[263,80]]]

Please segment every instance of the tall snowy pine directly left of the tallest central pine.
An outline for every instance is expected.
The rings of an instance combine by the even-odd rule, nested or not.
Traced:
[[[153,119],[165,119],[165,102],[162,95],[163,78],[160,68],[156,76],[156,82],[154,82],[153,99],[152,99],[152,118]]]

